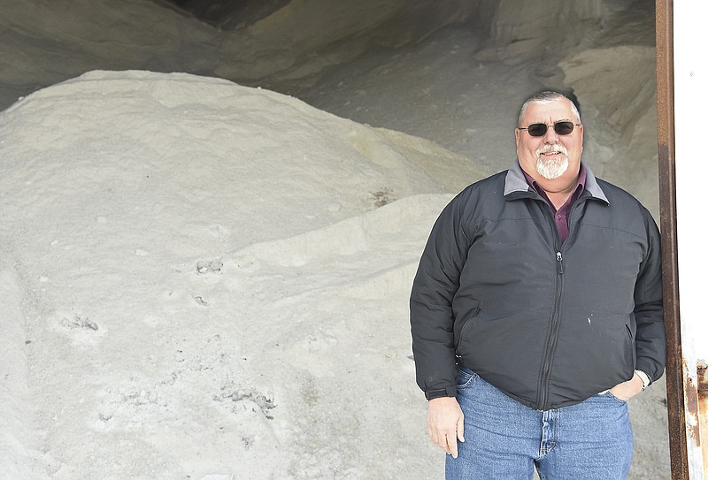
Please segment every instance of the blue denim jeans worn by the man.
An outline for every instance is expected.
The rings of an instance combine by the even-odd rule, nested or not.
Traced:
[[[624,480],[634,438],[627,402],[612,393],[539,411],[522,405],[472,370],[458,368],[465,442],[447,455],[448,480]]]

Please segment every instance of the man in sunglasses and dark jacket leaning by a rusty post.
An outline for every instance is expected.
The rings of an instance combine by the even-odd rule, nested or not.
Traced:
[[[411,295],[416,377],[449,479],[627,477],[627,400],[664,371],[659,233],[581,163],[557,92],[524,103],[518,163],[437,219]]]

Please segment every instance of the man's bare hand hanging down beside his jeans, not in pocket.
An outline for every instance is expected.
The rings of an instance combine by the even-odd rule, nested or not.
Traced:
[[[427,434],[453,458],[458,458],[458,439],[465,441],[464,420],[465,415],[455,397],[440,397],[427,402]]]

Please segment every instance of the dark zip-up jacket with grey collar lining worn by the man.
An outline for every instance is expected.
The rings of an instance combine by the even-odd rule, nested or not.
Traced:
[[[456,394],[456,362],[540,410],[664,371],[657,225],[596,179],[561,244],[519,164],[466,187],[438,217],[411,294],[413,355],[428,399]]]

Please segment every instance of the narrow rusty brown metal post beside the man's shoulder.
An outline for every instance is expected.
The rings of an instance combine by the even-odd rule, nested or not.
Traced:
[[[666,324],[666,401],[672,480],[689,480],[686,417],[683,396],[678,246],[676,242],[675,143],[673,137],[673,2],[656,0],[657,128],[659,225],[664,268]]]

